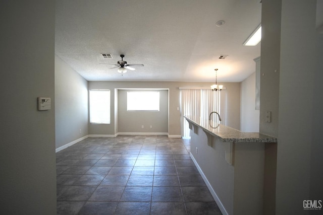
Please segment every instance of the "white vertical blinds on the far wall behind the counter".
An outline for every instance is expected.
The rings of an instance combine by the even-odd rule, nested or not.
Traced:
[[[181,125],[182,136],[189,137],[190,129],[188,122],[183,116],[201,116],[208,120],[210,112],[216,111],[220,114],[224,124],[225,110],[225,91],[212,91],[206,89],[181,89]],[[217,114],[212,114],[211,120],[220,123]]]

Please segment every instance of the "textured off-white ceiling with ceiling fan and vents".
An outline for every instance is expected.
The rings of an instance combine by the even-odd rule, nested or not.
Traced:
[[[55,52],[88,81],[211,82],[219,68],[218,82],[241,82],[260,56],[260,43],[242,44],[260,22],[259,0],[57,0]],[[121,76],[100,64],[120,54],[144,67]]]

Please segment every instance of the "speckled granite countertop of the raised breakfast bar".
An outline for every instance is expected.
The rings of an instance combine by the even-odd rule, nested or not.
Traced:
[[[184,116],[188,122],[201,127],[205,132],[218,136],[223,142],[277,142],[276,137],[257,132],[242,132],[204,117]]]

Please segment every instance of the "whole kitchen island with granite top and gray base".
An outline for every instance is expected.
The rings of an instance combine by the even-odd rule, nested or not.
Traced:
[[[275,202],[277,138],[184,116],[190,156],[223,214],[265,214]]]

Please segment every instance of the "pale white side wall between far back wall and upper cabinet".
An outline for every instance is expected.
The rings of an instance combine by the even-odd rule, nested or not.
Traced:
[[[241,82],[240,130],[259,132],[259,110],[256,106],[256,73]]]

